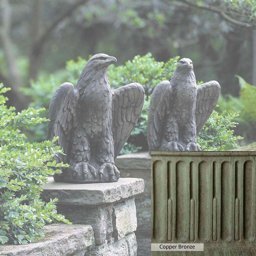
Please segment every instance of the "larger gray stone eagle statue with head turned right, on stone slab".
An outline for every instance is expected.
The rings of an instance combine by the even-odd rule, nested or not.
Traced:
[[[74,88],[64,83],[54,93],[47,138],[57,141],[68,163],[54,180],[74,183],[113,182],[120,177],[114,160],[130,136],[144,103],[144,89],[132,83],[111,90],[107,69],[116,58],[96,54],[84,66]]]

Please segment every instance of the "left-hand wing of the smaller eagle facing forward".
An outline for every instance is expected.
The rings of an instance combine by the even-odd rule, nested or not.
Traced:
[[[149,151],[160,147],[163,137],[166,102],[164,96],[171,93],[171,84],[164,80],[152,92],[148,111],[147,137]]]

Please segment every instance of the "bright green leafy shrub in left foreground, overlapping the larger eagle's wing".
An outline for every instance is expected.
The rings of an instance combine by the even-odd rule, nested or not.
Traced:
[[[46,223],[71,224],[57,214],[58,199],[45,203],[39,198],[47,176],[60,172],[53,167],[68,165],[53,161],[54,155],[62,153],[53,145],[57,138],[30,143],[20,130],[48,121],[38,116],[44,108],[29,107],[16,113],[15,108],[4,105],[8,99],[2,93],[10,88],[2,84],[0,88],[0,243],[27,244],[44,236]]]

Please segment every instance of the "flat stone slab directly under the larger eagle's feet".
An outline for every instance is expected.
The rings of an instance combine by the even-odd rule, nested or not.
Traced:
[[[43,185],[41,198],[49,202],[57,197],[58,204],[98,205],[113,203],[143,193],[144,180],[137,178],[120,178],[117,182],[74,184],[55,182],[53,177]]]

